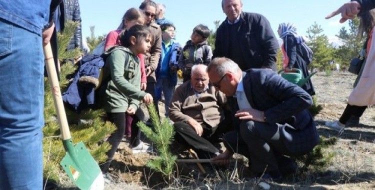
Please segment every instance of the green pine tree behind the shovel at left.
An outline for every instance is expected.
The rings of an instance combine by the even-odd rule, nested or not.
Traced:
[[[79,49],[65,51],[68,41],[73,36],[76,22],[68,21],[62,33],[58,33],[58,58],[69,59],[78,56],[81,52]],[[61,60],[60,60],[61,61]],[[63,64],[60,72],[61,92],[65,91],[68,85],[67,76],[71,75],[76,66],[70,63]],[[47,78],[44,78],[44,118],[45,126],[43,128],[43,164],[44,178],[46,180],[60,182],[61,176],[66,175],[59,162],[65,155],[65,150],[60,139],[59,125],[56,119],[56,112],[53,103],[53,96]],[[98,162],[105,161],[105,152],[109,150],[110,145],[103,142],[105,136],[114,131],[115,126],[110,122],[104,122],[102,117],[103,110],[85,110],[77,114],[65,108],[69,128],[72,138],[75,142],[83,141],[87,149]],[[78,118],[87,120],[87,123],[76,124]],[[32,164],[32,163],[30,163]]]

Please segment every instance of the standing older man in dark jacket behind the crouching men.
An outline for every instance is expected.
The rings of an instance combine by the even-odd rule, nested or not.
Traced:
[[[279,45],[267,18],[242,12],[242,0],[222,0],[221,7],[227,17],[216,30],[213,57],[228,57],[242,70],[275,70]]]

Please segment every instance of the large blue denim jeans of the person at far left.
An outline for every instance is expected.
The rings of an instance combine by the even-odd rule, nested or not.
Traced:
[[[41,36],[0,19],[0,189],[42,189],[43,66]]]

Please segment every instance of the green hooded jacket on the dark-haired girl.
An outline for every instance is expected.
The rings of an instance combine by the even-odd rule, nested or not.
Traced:
[[[146,94],[140,90],[139,58],[123,46],[108,49],[104,56],[99,92],[102,108],[107,112],[125,112],[132,106],[136,110]]]

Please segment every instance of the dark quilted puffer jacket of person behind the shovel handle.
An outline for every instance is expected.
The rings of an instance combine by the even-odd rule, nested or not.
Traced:
[[[60,3],[60,30],[64,29],[64,23],[67,20],[78,21],[79,24],[75,29],[74,36],[70,39],[66,49],[74,49],[75,47],[82,49],[82,31],[81,31],[81,19],[78,0],[63,0]]]

